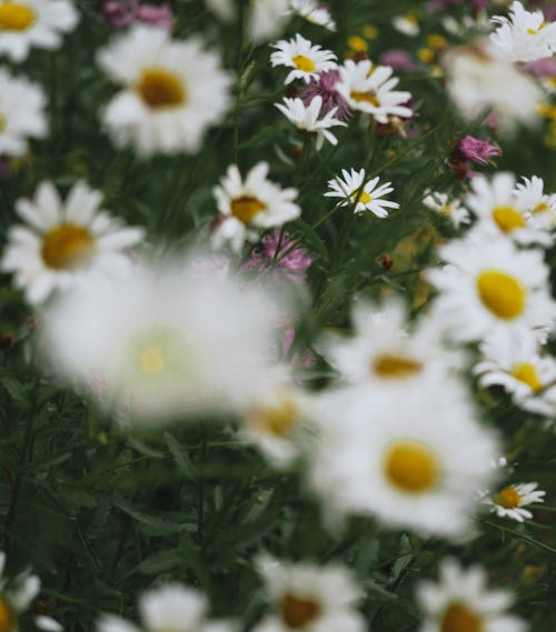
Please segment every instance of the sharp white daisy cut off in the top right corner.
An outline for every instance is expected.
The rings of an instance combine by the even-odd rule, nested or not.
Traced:
[[[490,41],[509,61],[535,61],[556,52],[556,23],[547,23],[543,11],[526,11],[517,0],[509,8],[509,18],[493,16],[498,28]]]

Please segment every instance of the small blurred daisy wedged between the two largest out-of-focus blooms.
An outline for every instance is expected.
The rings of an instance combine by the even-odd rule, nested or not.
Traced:
[[[247,407],[240,437],[276,468],[287,468],[311,435],[310,399],[285,377],[272,380]]]

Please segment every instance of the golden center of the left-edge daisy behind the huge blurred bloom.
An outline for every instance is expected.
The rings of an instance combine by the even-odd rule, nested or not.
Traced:
[[[54,270],[85,268],[95,254],[95,239],[77,224],[60,224],[44,234],[42,261]]]

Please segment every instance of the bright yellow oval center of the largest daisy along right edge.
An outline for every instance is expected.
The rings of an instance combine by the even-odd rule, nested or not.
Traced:
[[[515,277],[502,270],[480,272],[477,291],[483,304],[503,320],[513,320],[525,310],[525,288]]]

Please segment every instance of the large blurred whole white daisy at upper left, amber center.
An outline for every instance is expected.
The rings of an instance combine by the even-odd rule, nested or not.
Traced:
[[[172,40],[167,29],[135,26],[98,54],[122,90],[102,114],[118,147],[142,157],[199,151],[202,137],[230,104],[230,78],[199,40]]]

